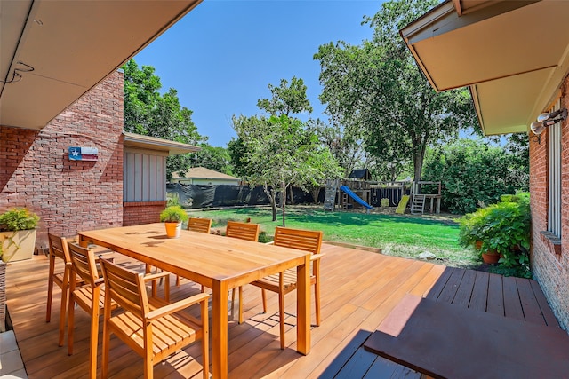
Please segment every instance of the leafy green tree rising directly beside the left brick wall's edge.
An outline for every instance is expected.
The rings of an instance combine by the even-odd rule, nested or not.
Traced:
[[[180,106],[178,92],[160,93],[162,83],[151,66],[138,67],[134,59],[124,65],[124,130],[144,136],[197,145],[206,137],[197,132],[192,111]],[[173,171],[186,172],[191,154],[174,155],[166,162],[166,177]]]

